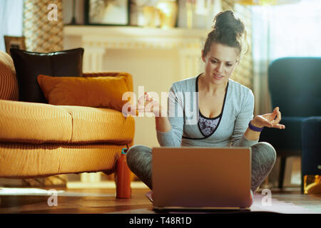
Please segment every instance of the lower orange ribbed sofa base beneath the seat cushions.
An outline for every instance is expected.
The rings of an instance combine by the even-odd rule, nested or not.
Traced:
[[[114,170],[126,145],[0,142],[0,177],[30,178]]]

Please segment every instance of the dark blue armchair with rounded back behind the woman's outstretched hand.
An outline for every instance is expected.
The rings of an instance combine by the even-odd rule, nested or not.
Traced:
[[[272,108],[280,107],[285,129],[265,128],[260,141],[270,142],[280,157],[278,187],[282,188],[286,158],[302,155],[302,123],[321,116],[321,58],[276,59],[268,68],[268,86]]]

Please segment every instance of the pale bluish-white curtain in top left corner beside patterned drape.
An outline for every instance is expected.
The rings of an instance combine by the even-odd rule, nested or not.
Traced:
[[[0,1],[0,51],[6,51],[4,36],[22,36],[24,0]]]

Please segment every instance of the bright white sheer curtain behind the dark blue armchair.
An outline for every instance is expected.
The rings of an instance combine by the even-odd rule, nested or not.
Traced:
[[[321,56],[321,1],[251,6],[255,115],[270,113],[267,67],[276,58]],[[280,108],[282,113],[282,108]]]

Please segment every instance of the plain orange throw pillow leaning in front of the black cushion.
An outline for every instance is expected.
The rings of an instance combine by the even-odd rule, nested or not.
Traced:
[[[39,75],[39,86],[51,105],[113,108],[121,111],[128,91],[126,76],[52,77]]]

